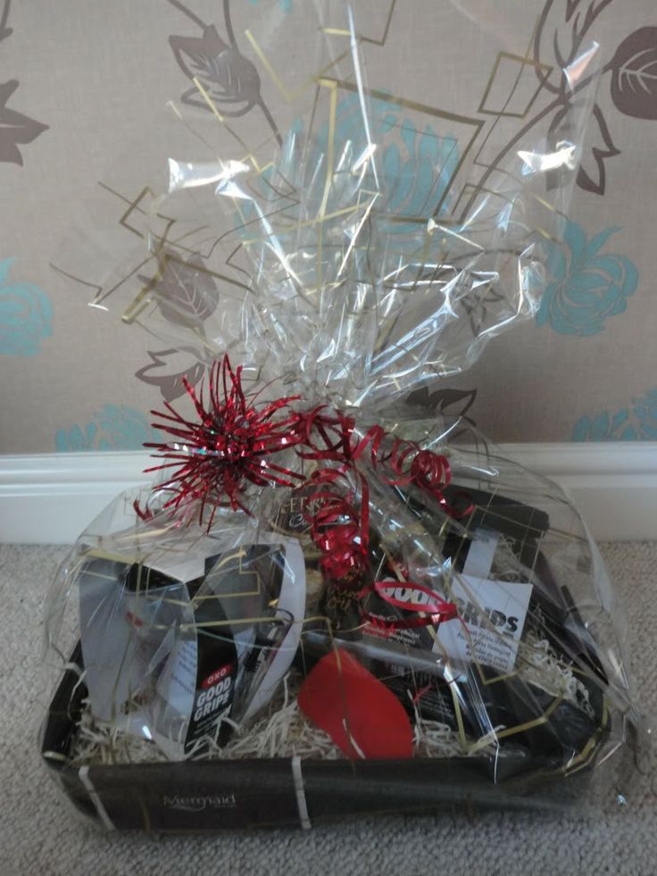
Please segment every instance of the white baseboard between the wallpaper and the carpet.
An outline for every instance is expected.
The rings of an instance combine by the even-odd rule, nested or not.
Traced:
[[[657,540],[657,443],[507,444],[575,499],[595,538]],[[0,542],[71,544],[122,489],[147,483],[142,452],[0,456]]]

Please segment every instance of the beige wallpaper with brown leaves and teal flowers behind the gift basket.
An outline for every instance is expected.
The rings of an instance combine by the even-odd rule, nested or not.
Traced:
[[[461,413],[493,440],[657,440],[653,0],[500,0],[486,11],[473,0],[362,0],[359,13],[362,51],[385,87],[372,123],[383,173],[398,180],[388,206],[427,218],[460,208],[462,160],[484,188],[520,137],[557,137],[578,98],[551,71],[599,41],[570,219],[549,245],[534,324],[410,400]],[[62,277],[59,240],[80,225],[89,193],[104,197],[115,228],[143,237],[142,171],[125,156],[141,153],[135,163],[147,169],[152,119],[170,101],[208,111],[206,93],[236,131],[254,125],[283,145],[295,130],[291,96],[314,60],[308,14],[296,0],[116,0],[66,14],[46,0],[0,0],[0,454],[137,448],[153,439],[149,411],[181,396],[183,377],[203,380],[208,363],[88,308],[93,265],[78,287]],[[356,102],[339,97],[338,143],[353,137]],[[439,118],[417,109],[426,105]],[[153,281],[137,265],[132,279]],[[199,310],[197,284],[220,292],[198,253],[166,262],[156,282],[199,327],[211,314]]]

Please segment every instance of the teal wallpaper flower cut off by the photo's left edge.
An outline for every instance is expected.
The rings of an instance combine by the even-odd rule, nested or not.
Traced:
[[[37,286],[10,282],[13,261],[0,261],[0,354],[36,356],[53,333],[53,305]]]

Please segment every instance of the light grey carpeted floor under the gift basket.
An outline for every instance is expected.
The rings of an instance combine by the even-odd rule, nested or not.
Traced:
[[[0,876],[205,874],[603,874],[657,872],[657,780],[599,818],[489,813],[474,820],[388,817],[307,832],[233,833],[161,842],[105,835],[71,816],[37,756],[40,605],[61,547],[0,546]],[[603,546],[628,608],[632,671],[657,705],[657,544]]]

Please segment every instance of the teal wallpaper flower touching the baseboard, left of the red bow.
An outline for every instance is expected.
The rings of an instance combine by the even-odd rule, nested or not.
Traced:
[[[72,453],[83,450],[139,450],[146,441],[157,439],[143,413],[124,405],[104,405],[85,426],[59,429],[55,450]]]

